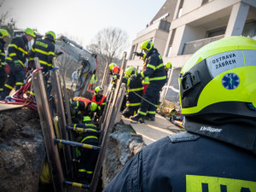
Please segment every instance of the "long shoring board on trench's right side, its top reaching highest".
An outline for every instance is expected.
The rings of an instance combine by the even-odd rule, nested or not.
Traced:
[[[105,122],[102,122],[102,126],[104,127],[104,131],[102,132],[103,134],[102,143],[101,143],[102,148],[100,150],[100,153],[98,155],[98,159],[96,162],[96,168],[95,168],[91,185],[90,185],[90,192],[96,192],[99,177],[102,172],[102,163],[105,158],[106,148],[108,146],[109,133],[111,133],[111,131],[113,130],[114,120],[116,119],[116,115],[118,113],[117,105],[119,104],[119,102],[122,102],[124,98],[123,94],[125,90],[123,89],[125,89],[125,86],[121,86],[121,84],[122,84],[123,72],[126,64],[125,58],[126,58],[126,52],[124,53],[124,56],[123,56],[123,62],[120,70],[120,78],[117,83],[116,89],[114,90],[113,102],[111,102],[111,104],[109,105],[109,111],[107,114],[108,117],[107,119],[105,119],[106,120]],[[121,97],[121,95],[123,95],[123,97]]]

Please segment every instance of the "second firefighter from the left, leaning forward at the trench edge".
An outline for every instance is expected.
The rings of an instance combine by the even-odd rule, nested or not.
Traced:
[[[5,96],[9,96],[9,92],[15,87],[15,90],[19,90],[20,86],[24,84],[25,79],[25,62],[28,56],[27,42],[35,38],[35,32],[26,28],[24,35],[14,38],[8,46],[8,55],[6,62],[9,64],[10,73],[6,84],[4,84],[3,91],[1,92],[0,100],[3,100]]]

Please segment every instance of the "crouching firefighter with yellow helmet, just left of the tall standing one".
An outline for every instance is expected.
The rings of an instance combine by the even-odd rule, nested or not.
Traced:
[[[123,111],[125,118],[137,114],[137,109],[141,106],[143,96],[143,83],[142,79],[133,78],[132,75],[137,75],[136,67],[129,67],[125,71],[127,78],[123,78],[126,89],[126,108]],[[140,97],[141,96],[141,97]]]

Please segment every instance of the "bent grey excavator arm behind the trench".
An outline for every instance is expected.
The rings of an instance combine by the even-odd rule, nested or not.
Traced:
[[[74,96],[83,96],[92,74],[96,72],[96,54],[84,49],[73,40],[61,36],[56,39],[55,55],[57,62],[73,61],[81,65],[79,82],[76,85]],[[63,59],[65,57],[66,59]]]

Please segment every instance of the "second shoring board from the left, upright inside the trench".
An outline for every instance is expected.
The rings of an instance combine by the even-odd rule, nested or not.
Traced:
[[[55,60],[53,60],[53,67],[56,67]],[[65,116],[65,109],[63,105],[63,95],[61,90],[61,80],[60,80],[60,74],[57,69],[55,69],[51,73],[51,84],[52,84],[52,90],[54,93],[55,98],[55,106],[56,111],[58,114],[58,127],[61,133],[61,138],[64,140],[69,140],[68,134],[67,134],[67,121]],[[72,155],[69,145],[62,145],[63,148],[63,154],[64,154],[64,164],[65,164],[65,173],[66,176],[73,176],[73,163],[72,163]]]

